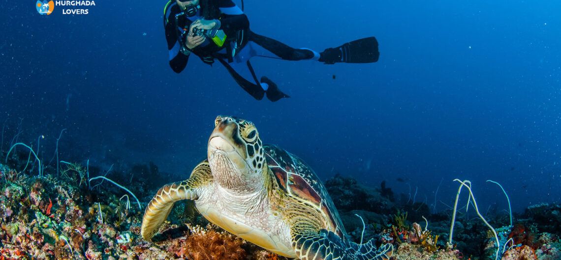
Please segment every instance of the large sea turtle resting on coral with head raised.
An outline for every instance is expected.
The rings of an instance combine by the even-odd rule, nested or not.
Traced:
[[[144,212],[150,240],[173,203],[194,200],[211,223],[271,252],[300,259],[389,259],[391,244],[351,242],[325,186],[314,171],[276,145],[263,145],[255,125],[218,116],[208,159],[191,177],[160,188]]]

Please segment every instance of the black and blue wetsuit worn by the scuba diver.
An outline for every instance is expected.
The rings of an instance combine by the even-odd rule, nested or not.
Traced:
[[[274,83],[265,77],[261,83],[257,79],[249,60],[254,56],[268,56],[284,60],[319,60],[320,54],[310,49],[295,49],[277,40],[261,36],[249,30],[249,20],[242,10],[231,0],[215,0],[215,8],[219,8],[220,28],[227,35],[226,42],[218,47],[208,38],[203,44],[190,50],[207,64],[212,64],[217,59],[226,67],[234,80],[256,100],[261,100],[264,94],[271,101],[288,97],[280,92]],[[168,42],[169,65],[174,72],[180,73],[187,65],[189,55],[181,51],[183,29],[189,29],[192,22],[203,18],[201,10],[194,16],[177,16],[181,8],[175,1],[166,6],[164,12],[165,37]],[[203,7],[204,8],[204,7]],[[268,83],[268,84],[262,84]],[[266,91],[265,91],[266,90]]]

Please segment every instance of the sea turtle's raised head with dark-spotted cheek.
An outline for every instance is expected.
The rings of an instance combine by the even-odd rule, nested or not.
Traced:
[[[247,186],[263,187],[260,176],[267,167],[265,153],[250,121],[218,116],[208,143],[208,160],[213,179],[220,186],[246,190]]]

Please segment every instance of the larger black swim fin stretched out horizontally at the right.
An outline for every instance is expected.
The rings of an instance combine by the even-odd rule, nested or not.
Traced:
[[[319,61],[325,64],[378,62],[380,52],[375,37],[347,42],[337,48],[327,48],[320,53]]]

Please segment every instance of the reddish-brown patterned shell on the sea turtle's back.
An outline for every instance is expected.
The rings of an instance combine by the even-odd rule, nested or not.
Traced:
[[[347,233],[327,189],[304,160],[276,145],[265,144],[265,159],[277,177],[280,188],[289,195],[309,202],[327,216],[327,230],[341,238]]]

